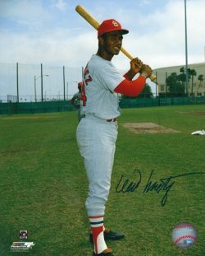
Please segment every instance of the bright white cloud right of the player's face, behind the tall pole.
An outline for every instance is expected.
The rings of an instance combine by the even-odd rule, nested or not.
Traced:
[[[203,62],[205,46],[205,2],[188,2],[189,63]],[[163,10],[139,16],[138,26],[125,36],[124,46],[154,68],[185,63],[185,9],[181,1],[170,1]],[[122,64],[122,63],[121,63]]]

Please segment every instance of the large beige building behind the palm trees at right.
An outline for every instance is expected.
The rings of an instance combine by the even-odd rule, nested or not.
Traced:
[[[169,77],[172,72],[175,72],[177,75],[179,75],[181,73],[180,72],[181,67],[186,68],[185,65],[180,65],[180,66],[174,66],[174,67],[160,67],[153,70],[153,74],[156,75],[157,90],[159,95],[169,93],[169,88],[167,88],[166,86],[166,77]],[[205,63],[189,64],[188,68],[194,69],[197,72],[193,80],[193,95],[195,96],[205,95]],[[203,75],[203,81],[198,80],[199,75]],[[191,79],[189,80],[188,91],[189,91],[189,95],[191,95],[191,91],[192,91]]]

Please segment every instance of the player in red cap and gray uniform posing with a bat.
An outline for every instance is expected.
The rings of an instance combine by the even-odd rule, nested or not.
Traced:
[[[146,78],[152,74],[151,67],[139,58],[130,62],[130,70],[124,76],[112,65],[112,57],[119,54],[123,35],[116,20],[106,20],[98,28],[98,52],[84,68],[81,92],[82,119],[76,136],[80,154],[89,179],[89,196],[85,207],[92,233],[93,255],[112,255],[105,240],[124,237],[103,226],[105,204],[111,186],[112,165],[116,149],[117,118],[121,115],[118,94],[136,96],[144,89]],[[139,77],[132,80],[139,73]]]

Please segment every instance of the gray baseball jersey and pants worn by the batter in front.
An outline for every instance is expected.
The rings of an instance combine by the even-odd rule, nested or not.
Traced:
[[[87,100],[81,114],[85,118],[81,119],[76,136],[89,179],[85,202],[89,216],[104,215],[116,149],[116,118],[121,115],[114,90],[124,79],[110,61],[98,55],[93,55],[84,69]]]

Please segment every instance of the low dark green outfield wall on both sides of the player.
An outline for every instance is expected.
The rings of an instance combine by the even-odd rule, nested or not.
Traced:
[[[137,98],[122,99],[120,107],[140,108],[164,105],[199,105],[205,104],[205,96],[180,98]],[[44,102],[7,102],[0,103],[0,114],[38,114],[62,111],[72,111],[75,108],[70,100],[44,101]]]

